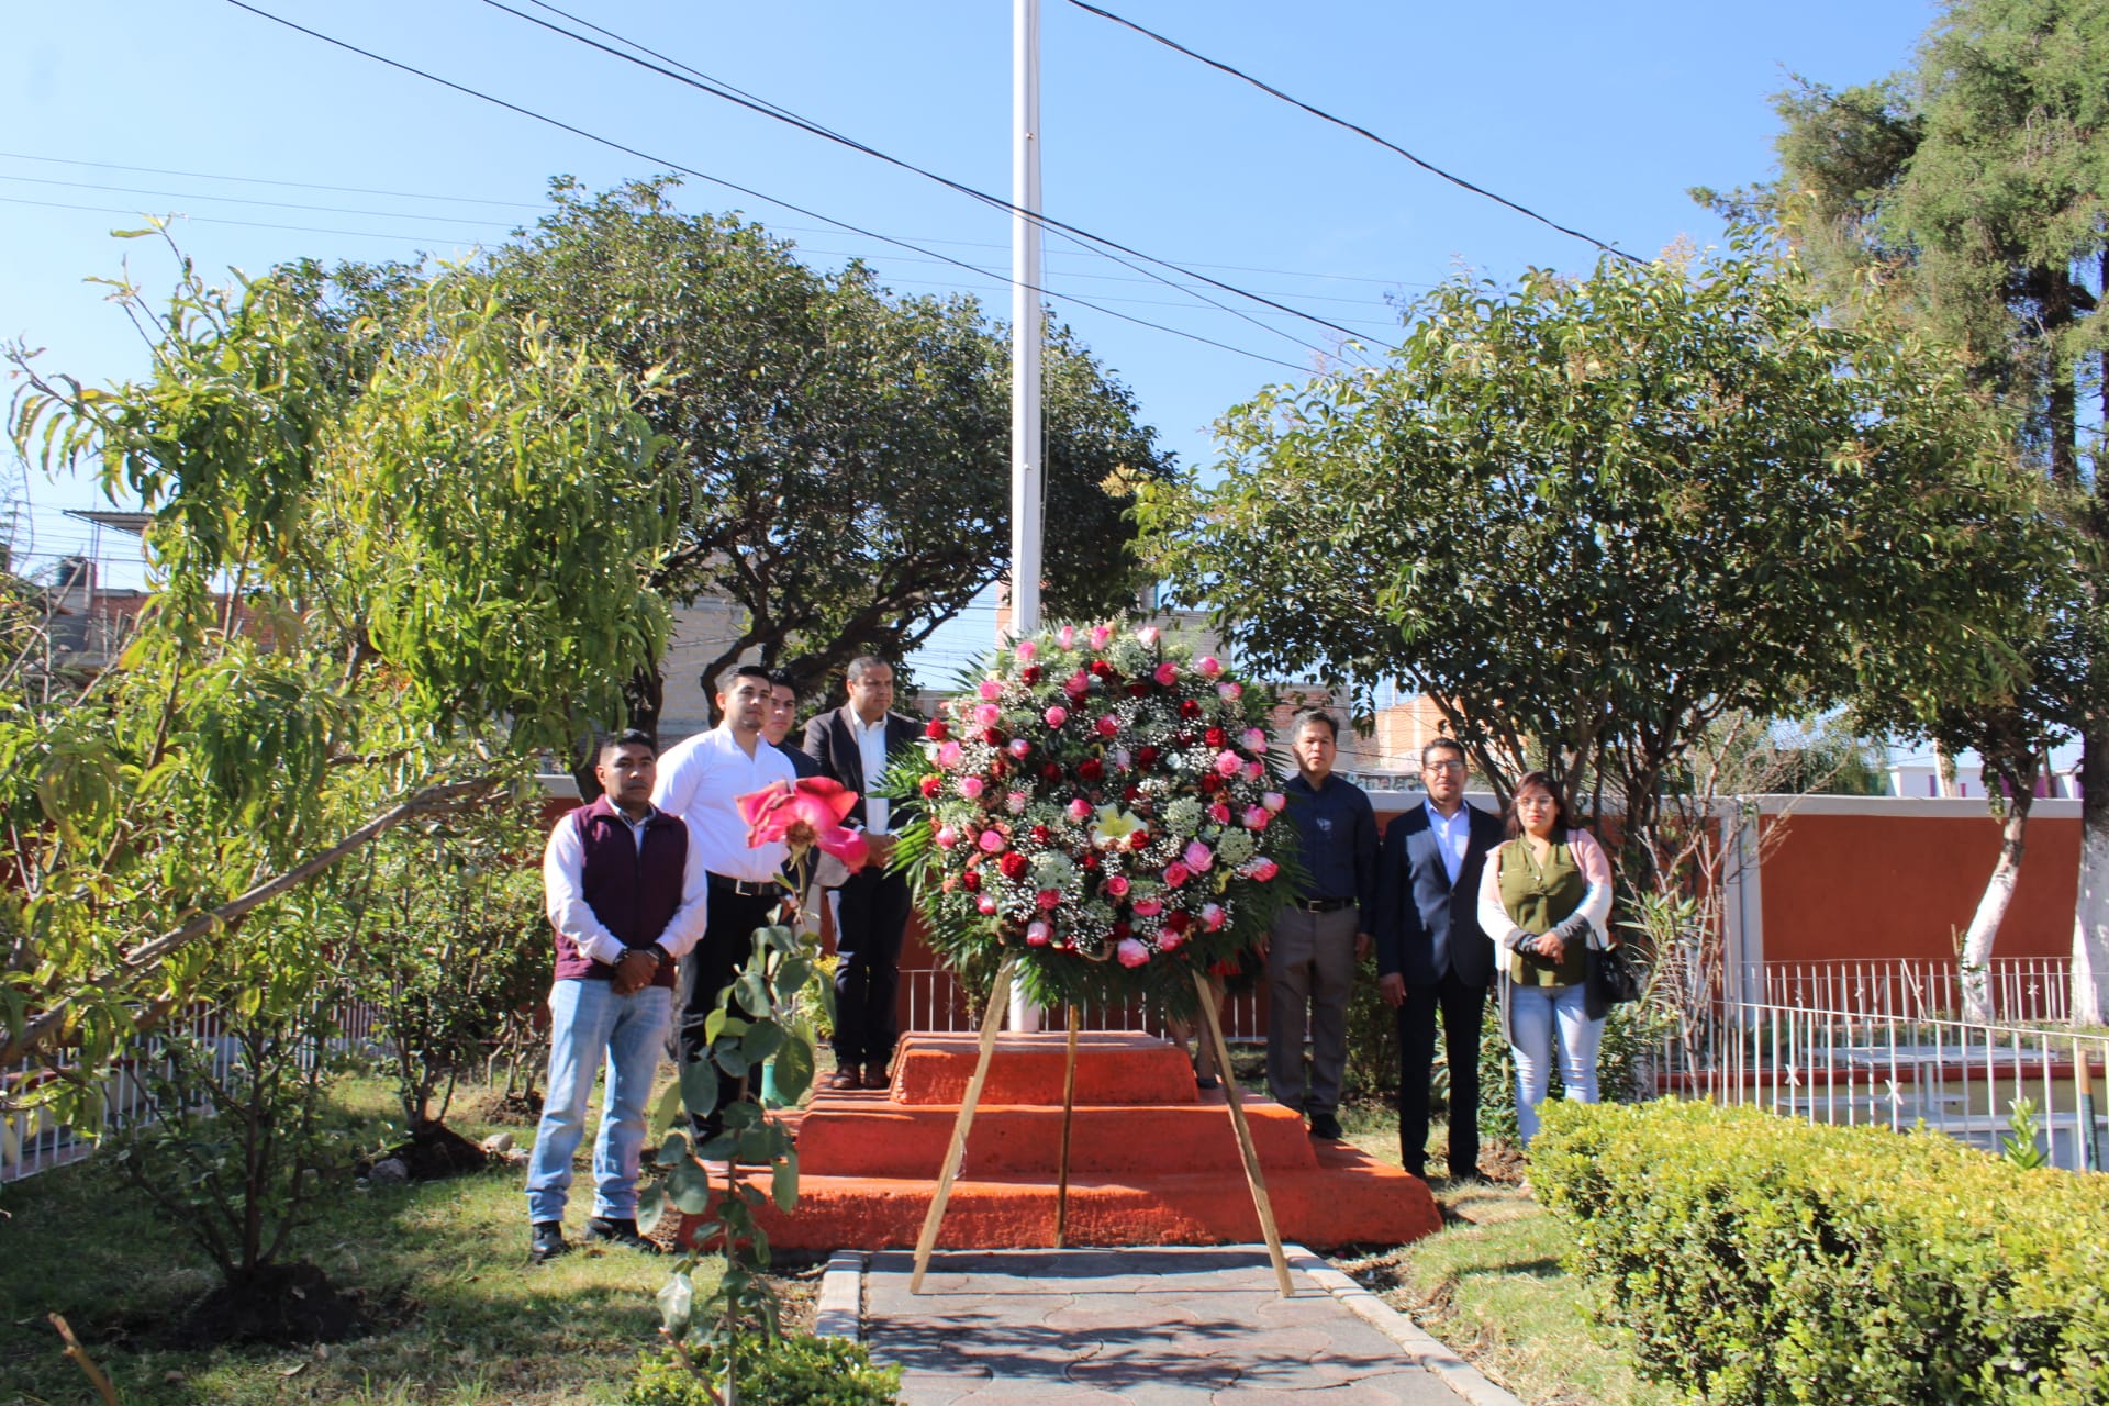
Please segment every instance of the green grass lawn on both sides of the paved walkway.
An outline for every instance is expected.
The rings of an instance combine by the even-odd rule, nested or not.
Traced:
[[[1257,1092],[1257,1060],[1238,1056]],[[472,1092],[458,1109],[472,1107]],[[378,1126],[388,1086],[337,1094]],[[1341,1109],[1348,1138],[1398,1161],[1398,1124],[1377,1102]],[[489,1126],[460,1113],[458,1132]],[[510,1128],[521,1145],[531,1128]],[[1430,1161],[1443,1166],[1440,1128]],[[580,1149],[580,1164],[591,1143]],[[86,1402],[91,1391],[46,1313],[63,1313],[131,1406],[226,1402],[616,1402],[656,1345],[664,1265],[626,1250],[527,1265],[521,1168],[344,1191],[297,1254],[356,1290],[375,1332],[325,1347],[165,1345],[167,1326],[213,1288],[211,1265],[95,1159],[0,1191],[0,1406]],[[591,1199],[591,1180],[582,1174]],[[574,1187],[578,1191],[580,1187]],[[1533,1406],[1666,1404],[1594,1324],[1590,1290],[1561,1261],[1567,1229],[1514,1185],[1432,1183],[1445,1227],[1413,1246],[1335,1263]],[[584,1221],[574,1195],[572,1235]],[[787,1275],[808,1294],[814,1273]],[[702,1284],[698,1284],[698,1290]],[[799,1313],[793,1309],[793,1322]]]

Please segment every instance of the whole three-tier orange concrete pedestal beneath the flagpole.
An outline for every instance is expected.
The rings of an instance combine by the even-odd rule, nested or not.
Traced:
[[[939,1246],[1054,1244],[1063,1035],[1002,1035],[951,1187]],[[884,1092],[820,1092],[797,1119],[797,1210],[763,1212],[770,1244],[877,1250],[915,1244],[974,1073],[972,1035],[907,1035]],[[1438,1229],[1426,1183],[1303,1119],[1244,1100],[1282,1239],[1402,1244]],[[768,1191],[768,1174],[753,1185]],[[685,1227],[683,1227],[685,1237]],[[1185,1054],[1135,1033],[1078,1037],[1067,1244],[1204,1246],[1261,1239],[1221,1090],[1202,1094]]]

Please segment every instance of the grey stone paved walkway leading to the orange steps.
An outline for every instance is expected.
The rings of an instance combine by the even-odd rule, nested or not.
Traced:
[[[863,1332],[909,1406],[1514,1406],[1324,1261],[1291,1267],[1282,1298],[1261,1246],[955,1250],[909,1294],[884,1252]]]

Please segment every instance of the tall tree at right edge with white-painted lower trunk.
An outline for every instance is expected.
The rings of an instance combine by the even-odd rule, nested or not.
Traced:
[[[1997,691],[1966,727],[2012,757],[2077,731],[2082,877],[2073,932],[2073,1018],[2109,1018],[2109,649],[2103,548],[2109,497],[2101,422],[2109,411],[2109,4],[1951,0],[1913,72],[1780,95],[1780,179],[1727,204],[1778,217],[1833,287],[1881,280],[1928,331],[1963,348],[1972,379],[2016,417],[2016,449],[2073,500],[2086,580],[2082,668],[2052,666],[2031,700]],[[1713,192],[1698,192],[1713,198]],[[2088,398],[2101,407],[2082,413]],[[2016,626],[2016,632],[2027,632]],[[1953,723],[1970,708],[1951,696]],[[2012,769],[1987,757],[1987,776]],[[2016,793],[2020,795],[2020,793]],[[1987,892],[2010,883],[2018,824]],[[1985,917],[1980,909],[1980,917]],[[1989,944],[1989,938],[1987,938]],[[1989,946],[1987,946],[1989,951]]]

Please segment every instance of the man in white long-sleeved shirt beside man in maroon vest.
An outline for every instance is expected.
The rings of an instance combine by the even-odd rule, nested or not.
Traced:
[[[732,689],[717,694],[723,721],[666,750],[658,763],[652,803],[688,822],[711,873],[711,921],[694,951],[681,961],[681,1005],[675,1029],[675,1058],[700,1058],[709,1041],[702,1027],[717,1010],[719,995],[753,955],[757,927],[776,921],[785,887],[778,875],[787,845],[747,845],[747,822],[738,799],[776,782],[795,782],[791,759],[768,744],[761,721],[770,706],[770,672],[740,664]],[[713,1138],[723,1128],[721,1109],[738,1092],[719,1100],[719,1111],[698,1124],[698,1136]]]

